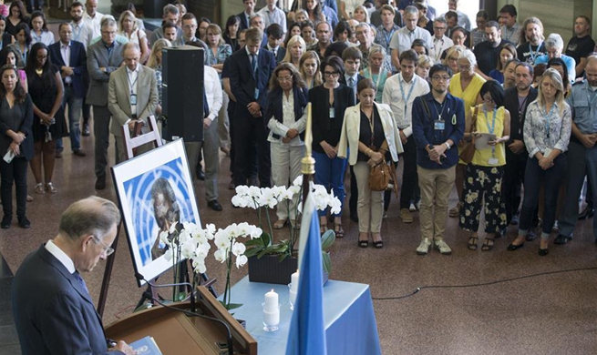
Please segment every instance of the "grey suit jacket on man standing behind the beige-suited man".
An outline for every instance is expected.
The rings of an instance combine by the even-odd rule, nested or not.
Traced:
[[[111,55],[108,55],[108,49],[101,40],[87,48],[88,105],[108,106],[108,81],[110,74],[122,64],[122,46],[124,45],[115,41]],[[100,67],[105,67],[106,72],[100,70]]]

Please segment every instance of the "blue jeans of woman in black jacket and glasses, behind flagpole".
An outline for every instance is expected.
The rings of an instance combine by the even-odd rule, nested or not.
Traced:
[[[347,159],[335,157],[330,159],[327,154],[313,151],[315,158],[315,184],[323,185],[329,191],[334,190],[334,196],[340,200],[342,208],[345,204],[345,171]],[[327,210],[317,211],[320,217],[327,215]],[[334,217],[342,216],[340,213]]]

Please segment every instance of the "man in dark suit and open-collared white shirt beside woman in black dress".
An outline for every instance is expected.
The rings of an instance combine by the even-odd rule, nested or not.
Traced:
[[[87,54],[82,43],[71,41],[73,27],[62,23],[58,27],[60,40],[49,46],[52,62],[60,67],[60,76],[65,86],[64,106],[68,106],[68,130],[70,131],[70,147],[73,154],[85,157],[81,149],[80,116],[85,97],[84,76],[87,75]],[[62,137],[57,138],[56,150],[62,150]]]

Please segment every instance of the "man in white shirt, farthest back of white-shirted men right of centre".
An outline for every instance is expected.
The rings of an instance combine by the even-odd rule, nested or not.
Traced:
[[[410,49],[415,39],[420,38],[425,42],[427,48],[433,46],[431,42],[431,34],[425,29],[417,26],[418,10],[415,6],[407,6],[404,10],[405,26],[400,28],[390,41],[390,49],[392,49],[392,65],[400,67],[400,53]]]

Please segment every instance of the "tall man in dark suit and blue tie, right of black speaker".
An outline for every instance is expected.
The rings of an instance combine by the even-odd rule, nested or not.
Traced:
[[[259,152],[259,181],[262,188],[270,187],[270,147],[263,125],[263,110],[266,106],[268,82],[275,69],[273,53],[260,50],[262,31],[250,28],[246,33],[247,45],[230,56],[230,86],[236,97],[235,139],[237,147],[234,161],[234,184],[247,183],[245,171],[247,159],[252,154],[252,140],[257,140]]]

